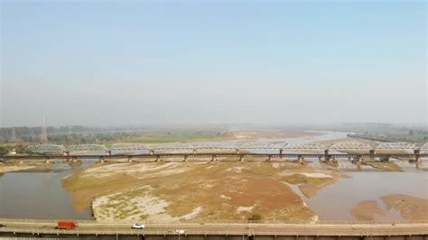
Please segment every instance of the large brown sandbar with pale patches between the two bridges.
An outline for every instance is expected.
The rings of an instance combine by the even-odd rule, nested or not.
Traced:
[[[63,185],[75,208],[91,206],[98,221],[313,222],[285,183],[302,172],[310,175],[298,182],[315,187],[334,178],[293,162],[100,163]]]

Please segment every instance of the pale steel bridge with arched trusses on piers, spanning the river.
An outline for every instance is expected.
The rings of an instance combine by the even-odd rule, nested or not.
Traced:
[[[196,158],[236,158],[243,162],[246,158],[271,160],[293,159],[304,162],[305,159],[319,159],[324,162],[335,162],[338,159],[361,162],[389,161],[390,158],[407,158],[413,162],[422,162],[428,157],[428,143],[421,147],[414,143],[380,143],[373,147],[367,143],[335,143],[330,146],[318,143],[174,143],[169,145],[147,146],[144,144],[114,144],[110,148],[102,144],[79,144],[63,146],[57,144],[39,144],[27,147],[27,152],[39,153],[30,155],[0,156],[7,160],[40,160],[51,159],[153,159],[181,158],[187,162]],[[42,153],[42,154],[40,154]],[[206,161],[206,160],[205,160]]]

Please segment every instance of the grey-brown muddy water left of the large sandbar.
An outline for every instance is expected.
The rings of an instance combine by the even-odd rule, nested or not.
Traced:
[[[49,172],[7,172],[0,178],[0,217],[90,219],[88,209],[75,210],[61,180],[72,171],[68,163],[56,163]]]

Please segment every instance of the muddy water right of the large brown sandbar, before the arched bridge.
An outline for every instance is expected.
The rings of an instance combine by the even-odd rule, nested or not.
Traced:
[[[379,198],[388,194],[405,194],[428,198],[428,173],[414,172],[347,172],[350,178],[320,189],[312,198],[302,198],[320,220],[357,220],[350,209],[361,201],[376,200],[387,216],[380,220],[401,220],[393,210],[386,209]],[[296,189],[299,191],[298,189]]]

